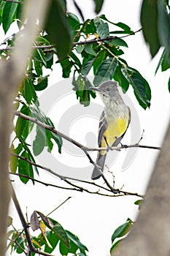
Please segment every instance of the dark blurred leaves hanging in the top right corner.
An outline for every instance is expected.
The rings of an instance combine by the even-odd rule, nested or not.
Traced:
[[[150,47],[152,57],[158,53],[158,50],[163,48],[155,73],[158,72],[159,67],[161,67],[161,71],[166,71],[170,68],[169,1],[144,0],[142,3],[141,22],[144,39]]]

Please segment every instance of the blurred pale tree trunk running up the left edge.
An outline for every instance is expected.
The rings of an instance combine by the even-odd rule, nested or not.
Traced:
[[[9,135],[11,132],[13,108],[12,100],[18,91],[23,78],[31,45],[37,32],[36,20],[42,17],[47,9],[47,0],[29,0],[23,13],[28,18],[23,37],[16,40],[16,48],[11,58],[0,61],[0,256],[6,252],[7,216],[10,198],[8,177],[9,166]]]

